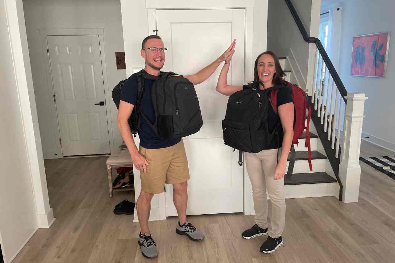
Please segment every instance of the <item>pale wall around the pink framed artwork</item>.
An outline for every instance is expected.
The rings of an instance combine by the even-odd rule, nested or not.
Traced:
[[[381,0],[352,0],[341,3],[342,26],[340,39],[339,75],[348,92],[361,92],[365,102],[362,138],[382,147],[395,150],[395,2]],[[376,19],[380,17],[380,19]],[[354,36],[391,31],[385,78],[350,75],[352,38]]]

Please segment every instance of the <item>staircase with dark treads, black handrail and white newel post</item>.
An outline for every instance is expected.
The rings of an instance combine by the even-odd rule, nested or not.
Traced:
[[[292,0],[284,1],[303,40],[309,45],[310,56],[314,56],[311,53],[313,47],[316,52],[315,61],[309,61],[314,63],[314,67],[309,67],[313,79],[303,81],[301,86],[308,94],[312,109],[310,131],[314,134],[314,138],[311,137],[313,171],[308,171],[307,152],[302,139],[299,141],[301,146],[296,147],[297,161],[292,180],[285,181],[286,198],[334,195],[339,201],[357,202],[361,177],[359,151],[363,109],[367,98],[365,94],[347,92],[321,41],[308,36]],[[291,47],[290,54],[293,57],[282,58],[280,64],[289,72],[288,81],[301,83],[299,72],[290,71],[299,68],[298,65],[293,67],[296,61]],[[311,68],[315,71],[312,72]]]

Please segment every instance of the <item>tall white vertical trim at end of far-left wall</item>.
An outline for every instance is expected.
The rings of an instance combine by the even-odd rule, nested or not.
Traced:
[[[52,218],[47,218],[47,221],[53,222],[53,213],[51,213],[51,207],[49,206],[36,100],[34,98],[32,69],[30,67],[26,27],[23,16],[23,3],[22,0],[6,0],[6,2],[11,52],[21,105],[26,152],[29,159],[36,214],[37,217],[41,214],[48,214]],[[49,227],[49,225],[46,226]]]

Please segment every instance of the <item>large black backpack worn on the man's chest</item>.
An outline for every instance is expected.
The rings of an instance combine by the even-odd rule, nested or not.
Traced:
[[[158,137],[170,140],[197,133],[203,120],[194,85],[173,72],[162,73],[151,89],[156,122],[151,123],[140,111]]]

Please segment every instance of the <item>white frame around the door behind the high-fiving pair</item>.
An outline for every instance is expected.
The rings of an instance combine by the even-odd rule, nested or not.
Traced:
[[[254,79],[254,58],[253,58],[253,25],[254,25],[254,2],[249,1],[249,7],[239,7],[235,4],[230,4],[227,7],[226,4],[223,8],[210,8],[209,6],[214,6],[215,3],[213,1],[201,1],[207,5],[207,8],[199,8],[199,9],[231,9],[231,8],[238,8],[238,9],[245,9],[246,12],[246,21],[245,21],[245,72],[244,72],[244,82]],[[210,2],[210,3],[209,3]],[[161,1],[156,0],[146,0],[147,4],[147,12],[148,12],[148,35],[154,34],[154,30],[157,29],[156,27],[156,10],[162,9],[196,9],[194,3],[184,2],[184,1],[174,1],[172,4],[166,4],[166,8],[148,8],[152,6],[160,6]],[[235,2],[236,3],[236,2]],[[159,28],[160,30],[160,28]],[[160,31],[158,31],[158,35],[160,35]],[[130,69],[131,70],[131,69]],[[245,160],[244,160],[245,163]],[[246,215],[251,214],[251,196],[252,196],[252,188],[250,178],[248,177],[248,173],[246,167],[244,165],[243,171],[243,178],[244,178],[244,200],[243,200],[243,213]],[[135,198],[137,200],[138,195],[137,191],[135,191]],[[158,195],[158,208],[157,208],[159,218],[157,220],[164,220],[166,219],[166,196],[162,193]],[[137,220],[136,220],[137,221]]]

